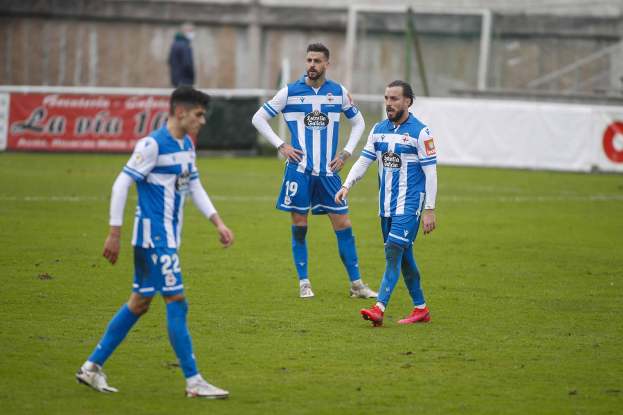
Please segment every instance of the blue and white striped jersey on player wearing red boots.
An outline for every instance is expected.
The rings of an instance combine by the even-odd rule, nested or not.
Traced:
[[[394,128],[390,120],[374,125],[361,156],[379,162],[379,216],[421,214],[426,200],[422,166],[437,164],[431,131],[413,114]]]

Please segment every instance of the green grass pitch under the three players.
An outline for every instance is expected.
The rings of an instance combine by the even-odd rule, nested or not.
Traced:
[[[438,167],[437,229],[415,243],[432,320],[396,324],[412,306],[400,281],[373,329],[323,216],[307,234],[316,298],[298,298],[289,215],[275,209],[282,162],[199,158],[235,242],[222,250],[188,201],[188,321],[201,374],[230,398],[184,397],[161,299],[105,365],[120,392],[78,385],[132,286],[134,189],[118,264],[102,257],[127,158],[0,154],[0,414],[621,413],[623,176],[608,174]],[[349,204],[378,289],[373,170]]]

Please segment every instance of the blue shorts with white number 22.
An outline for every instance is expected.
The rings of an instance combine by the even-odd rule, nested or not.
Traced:
[[[174,248],[134,247],[134,284],[132,291],[151,297],[184,292],[179,255]]]

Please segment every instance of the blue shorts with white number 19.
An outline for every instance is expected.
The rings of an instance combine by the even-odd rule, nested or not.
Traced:
[[[277,201],[277,209],[287,212],[311,214],[346,213],[348,205],[335,203],[335,194],[342,187],[338,174],[333,176],[312,176],[286,167]]]

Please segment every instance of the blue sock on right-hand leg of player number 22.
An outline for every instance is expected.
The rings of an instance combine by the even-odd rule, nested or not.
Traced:
[[[195,353],[192,351],[192,340],[188,324],[186,324],[186,313],[188,313],[188,301],[186,298],[167,304],[167,325],[169,329],[169,341],[175,351],[175,356],[179,360],[179,365],[184,373],[184,377],[190,378],[199,373]]]

